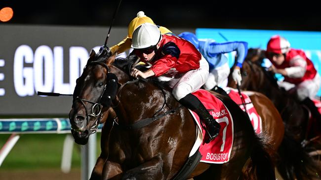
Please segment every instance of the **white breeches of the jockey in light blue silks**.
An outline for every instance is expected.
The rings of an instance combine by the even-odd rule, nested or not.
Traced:
[[[228,63],[223,64],[220,67],[214,68],[209,72],[206,83],[204,84],[205,90],[211,90],[216,85],[225,88],[228,83],[228,77],[230,74],[230,66]]]

